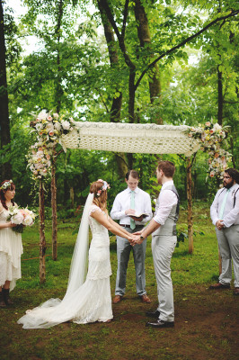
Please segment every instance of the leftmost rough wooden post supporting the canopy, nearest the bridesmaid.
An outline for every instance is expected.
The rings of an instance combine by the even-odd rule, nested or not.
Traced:
[[[40,284],[46,281],[46,238],[45,238],[45,199],[42,181],[39,185],[39,220],[40,220]]]

